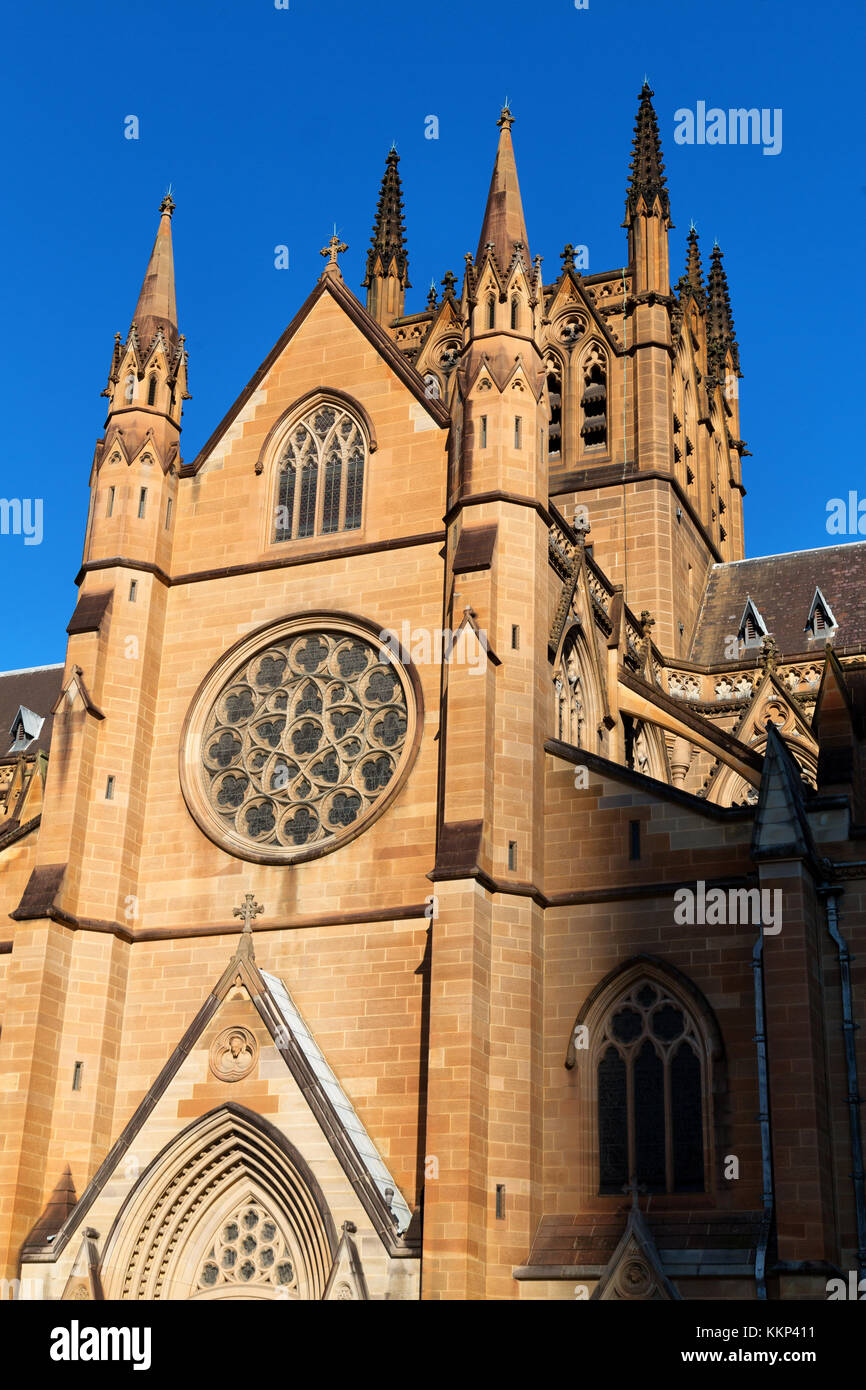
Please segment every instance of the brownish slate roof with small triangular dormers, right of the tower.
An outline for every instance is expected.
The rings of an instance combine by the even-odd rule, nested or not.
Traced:
[[[822,656],[824,634],[805,631],[816,588],[838,623],[835,648],[866,651],[866,541],[817,550],[765,555],[714,564],[709,573],[689,657],[705,666],[724,662],[724,641],[737,632],[751,598],[784,656]]]

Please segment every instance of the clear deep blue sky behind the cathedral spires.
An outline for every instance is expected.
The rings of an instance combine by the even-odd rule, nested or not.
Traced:
[[[44,499],[44,539],[0,535],[0,669],[63,660],[88,475],[171,182],[195,457],[321,272],[336,222],[356,293],[385,154],[400,153],[409,310],[474,252],[507,95],[532,254],[621,265],[637,93],[655,89],[673,278],[689,218],[726,254],[745,378],[746,553],[820,546],[859,488],[863,60],[859,0],[47,0],[4,21],[0,496]],[[674,111],[783,110],[783,149],[674,145]],[[124,138],[135,114],[140,138]],[[439,139],[424,138],[425,117]],[[289,247],[288,271],[274,247]],[[849,539],[842,537],[841,539]]]

